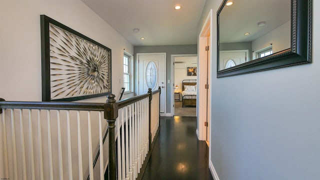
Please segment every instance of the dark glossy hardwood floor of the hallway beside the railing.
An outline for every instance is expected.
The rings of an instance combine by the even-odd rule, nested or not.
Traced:
[[[196,137],[196,117],[161,117],[160,125],[142,179],[213,179],[208,146]]]

